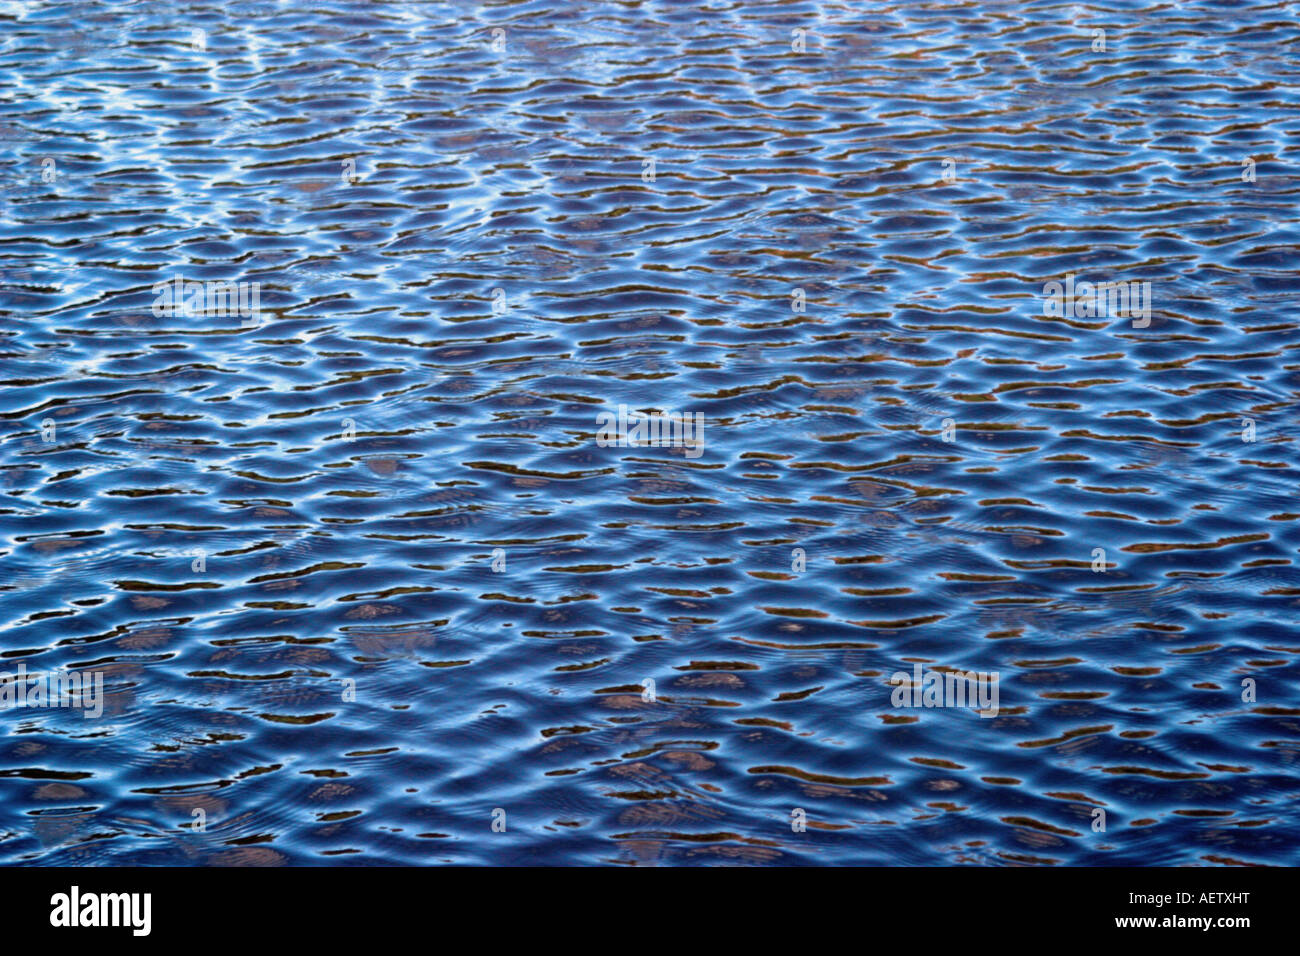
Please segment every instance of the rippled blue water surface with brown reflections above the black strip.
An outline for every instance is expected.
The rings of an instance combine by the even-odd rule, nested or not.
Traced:
[[[0,860],[1294,864],[1297,14],[0,3]]]

